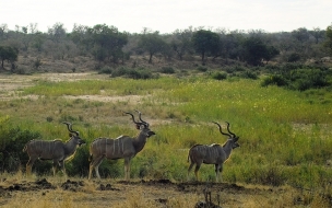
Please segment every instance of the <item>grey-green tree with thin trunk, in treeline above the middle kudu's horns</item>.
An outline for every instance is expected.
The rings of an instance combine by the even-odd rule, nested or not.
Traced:
[[[167,43],[161,37],[158,31],[154,33],[143,32],[139,47],[149,53],[149,63],[152,63],[152,57],[157,53],[163,53],[167,48]]]

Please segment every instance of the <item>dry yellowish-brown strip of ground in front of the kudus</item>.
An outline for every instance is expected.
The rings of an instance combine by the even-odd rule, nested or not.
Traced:
[[[287,188],[245,187],[227,183],[175,183],[169,180],[67,180],[50,183],[43,178],[35,182],[9,182],[0,186],[0,206],[14,206],[17,198],[28,201],[29,207],[42,203],[52,205],[54,196],[57,196],[62,203],[69,204],[69,200],[70,207],[265,207],[271,201],[287,200],[282,198],[286,192]],[[294,205],[294,196],[292,200]],[[289,206],[286,203],[284,205]],[[24,203],[22,207],[25,207]]]

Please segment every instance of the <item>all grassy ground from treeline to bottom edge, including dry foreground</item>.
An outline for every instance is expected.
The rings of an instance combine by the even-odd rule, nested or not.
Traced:
[[[218,81],[204,73],[149,80],[90,72],[1,74],[1,82],[2,132],[19,128],[43,139],[67,140],[61,124],[67,120],[87,142],[67,162],[69,182],[61,173],[52,177],[51,164],[42,161],[34,176],[27,177],[27,155],[12,152],[20,159],[12,165],[20,167],[2,170],[0,205],[4,207],[104,207],[107,203],[111,207],[193,207],[204,200],[204,188],[222,207],[332,205],[329,89],[289,91],[263,88],[260,79]],[[134,109],[142,112],[156,136],[132,160],[131,182],[121,181],[122,160],[104,161],[103,180],[88,182],[88,143],[97,137],[135,136],[138,130],[122,113]],[[222,183],[214,182],[214,166],[204,164],[199,172],[201,183],[193,183],[193,173],[188,182],[189,148],[227,139],[212,122],[223,128],[225,122],[230,123],[230,130],[240,137],[240,148],[224,165]],[[14,138],[2,134],[1,139]],[[43,178],[54,188],[39,184],[27,188]],[[81,185],[72,185],[76,183]],[[15,184],[19,190],[10,190]],[[66,189],[66,184],[74,188]],[[103,190],[107,184],[111,188]]]

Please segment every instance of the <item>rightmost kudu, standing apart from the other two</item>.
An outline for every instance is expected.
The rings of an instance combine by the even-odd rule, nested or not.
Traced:
[[[239,137],[229,130],[229,123],[227,123],[227,130],[229,134],[222,131],[222,126],[218,123],[213,122],[220,127],[220,131],[222,135],[228,136],[228,140],[223,146],[217,143],[212,143],[210,146],[206,145],[195,145],[189,150],[188,162],[190,160],[191,164],[188,167],[188,176],[191,171],[193,164],[195,164],[194,175],[198,180],[198,172],[201,167],[202,163],[205,164],[214,164],[215,165],[215,175],[216,182],[218,181],[218,173],[223,172],[224,162],[230,157],[232,150],[240,147],[237,141]],[[189,177],[188,177],[189,178]]]

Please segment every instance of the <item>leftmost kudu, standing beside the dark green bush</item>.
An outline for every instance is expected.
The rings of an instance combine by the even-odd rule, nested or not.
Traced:
[[[26,163],[26,173],[29,175],[34,162],[37,159],[52,160],[54,175],[56,175],[57,166],[62,167],[62,172],[66,175],[64,161],[72,158],[76,151],[76,147],[85,143],[80,138],[79,131],[72,130],[72,124],[63,122],[69,130],[70,139],[67,142],[62,142],[60,139],[52,141],[45,140],[31,140],[23,149],[23,152],[27,152],[29,160]]]

